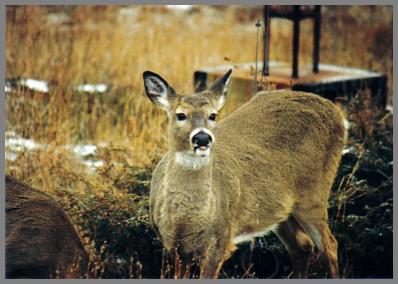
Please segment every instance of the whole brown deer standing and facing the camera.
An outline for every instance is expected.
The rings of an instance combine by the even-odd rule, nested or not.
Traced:
[[[231,72],[185,95],[143,73],[146,95],[168,116],[168,151],[149,196],[166,255],[161,278],[189,278],[195,263],[200,278],[218,278],[237,244],[268,232],[289,253],[293,278],[308,278],[315,252],[338,278],[327,208],[346,139],[342,111],[316,94],[282,89],[260,91],[217,121]]]

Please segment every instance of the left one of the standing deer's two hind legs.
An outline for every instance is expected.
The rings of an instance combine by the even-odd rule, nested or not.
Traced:
[[[289,253],[293,278],[308,278],[310,259],[314,252],[314,243],[311,238],[293,216],[281,222],[275,234]]]

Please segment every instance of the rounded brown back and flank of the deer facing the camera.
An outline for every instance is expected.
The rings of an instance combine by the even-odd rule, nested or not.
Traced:
[[[334,179],[344,135],[341,111],[324,98],[258,93],[217,128],[214,183],[234,208],[224,212],[240,220],[237,226],[255,222],[256,215],[273,224],[298,199],[327,204],[330,188],[323,184]]]

